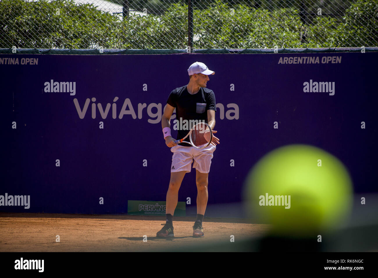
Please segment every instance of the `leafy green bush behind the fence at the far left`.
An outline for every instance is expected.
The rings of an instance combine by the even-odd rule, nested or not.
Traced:
[[[108,30],[116,24],[115,16],[72,0],[0,2],[0,45],[6,48],[110,47]]]

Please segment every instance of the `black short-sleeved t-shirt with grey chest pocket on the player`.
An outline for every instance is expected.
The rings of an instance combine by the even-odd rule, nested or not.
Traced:
[[[201,87],[200,90],[191,95],[186,89],[186,85],[173,90],[167,100],[167,104],[176,107],[176,122],[174,127],[177,127],[177,140],[184,138],[192,126],[198,121],[208,122],[208,110],[215,108],[215,95],[212,90]],[[188,141],[189,137],[184,141]],[[186,143],[181,143],[181,146],[191,146]]]

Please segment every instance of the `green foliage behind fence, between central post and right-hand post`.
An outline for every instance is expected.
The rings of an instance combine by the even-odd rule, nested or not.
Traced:
[[[209,9],[196,11],[195,18],[200,21],[194,28],[200,36],[196,48],[273,48],[299,43],[300,22],[294,10],[269,12],[240,4],[233,9],[216,2]]]

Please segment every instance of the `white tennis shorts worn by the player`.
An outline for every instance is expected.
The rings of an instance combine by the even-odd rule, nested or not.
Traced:
[[[180,145],[170,148],[170,151],[173,152],[170,172],[186,171],[189,173],[193,160],[193,168],[204,174],[210,172],[211,158],[215,149],[216,147],[213,144],[203,149]]]

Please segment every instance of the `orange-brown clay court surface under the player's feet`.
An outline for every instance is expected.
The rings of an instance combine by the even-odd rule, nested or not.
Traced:
[[[0,252],[179,251],[263,236],[269,225],[246,219],[205,218],[204,238],[193,238],[195,217],[175,217],[173,239],[156,238],[164,216],[0,213]],[[56,242],[56,235],[60,242]],[[147,242],[143,242],[143,236]],[[226,246],[226,245],[225,245]]]

